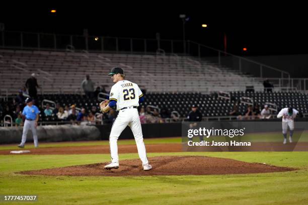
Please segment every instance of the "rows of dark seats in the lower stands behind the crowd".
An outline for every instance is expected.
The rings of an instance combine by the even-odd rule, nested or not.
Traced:
[[[255,104],[263,109],[266,102],[277,105],[278,111],[285,107],[293,107],[301,113],[308,113],[308,95],[300,92],[232,92],[231,100],[217,97],[217,93],[146,93],[143,106],[151,105],[169,112],[177,111],[181,117],[186,117],[192,105],[197,105],[203,117],[228,116],[234,104],[239,105],[239,112],[244,115],[247,105],[240,103],[240,97],[251,97]],[[91,110],[92,106],[99,107],[99,101],[78,94],[48,94],[40,96],[40,100],[49,99],[59,102],[61,106],[75,104],[76,107]]]

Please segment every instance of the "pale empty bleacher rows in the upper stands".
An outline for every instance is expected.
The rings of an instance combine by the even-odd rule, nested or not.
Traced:
[[[9,93],[16,93],[33,72],[39,74],[43,93],[76,93],[86,74],[108,88],[113,83],[106,73],[114,66],[121,66],[129,80],[151,92],[244,91],[247,85],[263,89],[252,77],[188,56],[0,49],[2,88]]]

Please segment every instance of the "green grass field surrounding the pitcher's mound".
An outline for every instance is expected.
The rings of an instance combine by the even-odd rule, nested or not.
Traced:
[[[145,140],[145,143],[180,143],[180,138]],[[120,140],[119,144],[133,144]],[[41,147],[93,145],[41,143]],[[102,141],[96,144],[108,144]],[[12,146],[16,148],[16,146]],[[28,146],[29,147],[29,146]],[[30,147],[29,147],[30,148]],[[0,146],[11,149],[11,146]],[[182,152],[148,153],[204,155],[246,162],[265,162],[296,167],[291,172],[240,175],[75,177],[21,175],[23,170],[106,162],[109,154],[0,155],[0,195],[38,195],[34,204],[307,204],[308,152]],[[138,158],[137,153],[120,154],[120,159]],[[0,202],[2,203],[2,202]],[[22,204],[24,202],[3,202]]]

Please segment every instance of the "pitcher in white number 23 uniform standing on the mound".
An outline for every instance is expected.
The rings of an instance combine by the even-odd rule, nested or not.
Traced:
[[[119,114],[112,125],[109,136],[111,163],[106,165],[104,168],[119,168],[117,141],[122,131],[126,128],[126,126],[129,126],[136,141],[143,170],[150,170],[152,166],[149,165],[147,161],[141,124],[137,110],[139,102],[144,100],[143,93],[136,83],[125,80],[125,75],[122,68],[114,67],[108,75],[111,75],[111,79],[115,84],[111,87],[109,100],[101,102],[100,108],[103,113],[107,113],[116,105]]]

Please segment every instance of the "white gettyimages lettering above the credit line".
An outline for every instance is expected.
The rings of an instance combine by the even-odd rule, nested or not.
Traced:
[[[189,129],[187,131],[187,137],[193,138],[194,136],[203,136],[206,138],[215,137],[215,136],[228,136],[229,138],[233,138],[235,136],[243,136],[245,128],[243,129]]]

